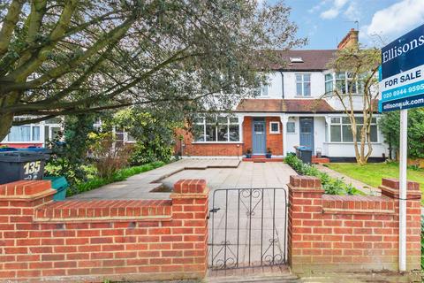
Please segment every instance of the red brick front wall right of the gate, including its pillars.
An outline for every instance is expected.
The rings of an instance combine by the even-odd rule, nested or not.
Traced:
[[[382,196],[323,195],[321,182],[291,176],[289,263],[294,272],[398,271],[398,181]],[[420,269],[420,189],[408,183],[407,269]]]

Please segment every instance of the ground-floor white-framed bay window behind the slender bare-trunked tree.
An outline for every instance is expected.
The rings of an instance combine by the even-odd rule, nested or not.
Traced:
[[[360,130],[364,124],[362,117],[356,117],[357,141],[360,141]],[[371,120],[370,127],[371,142],[378,142],[377,137],[377,119]],[[353,142],[351,121],[348,117],[332,117],[329,125],[330,142]]]

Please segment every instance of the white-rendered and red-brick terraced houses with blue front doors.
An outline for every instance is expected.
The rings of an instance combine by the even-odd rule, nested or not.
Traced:
[[[337,46],[358,45],[358,31],[351,30]],[[306,146],[313,155],[321,152],[331,161],[354,160],[349,118],[337,98],[322,98],[333,88],[346,92],[355,83],[349,73],[334,73],[327,67],[337,50],[279,51],[286,64],[274,65],[269,83],[260,95],[244,99],[230,117],[199,118],[193,134],[179,132],[178,151],[185,157],[240,157],[250,149],[261,157],[271,149],[273,157],[284,157],[295,146]],[[362,97],[360,86],[354,97],[360,125]],[[377,101],[375,101],[377,103]],[[373,152],[370,160],[388,156],[375,113],[371,126]],[[183,135],[181,135],[183,134]]]

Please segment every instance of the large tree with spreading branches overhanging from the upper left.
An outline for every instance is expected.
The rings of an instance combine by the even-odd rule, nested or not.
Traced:
[[[260,83],[267,50],[304,42],[289,14],[254,0],[6,0],[0,141],[12,125],[134,103],[225,108]]]

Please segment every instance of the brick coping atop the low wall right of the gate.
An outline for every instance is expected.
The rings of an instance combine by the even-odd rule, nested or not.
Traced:
[[[323,212],[331,213],[395,213],[395,203],[385,196],[322,195]]]

